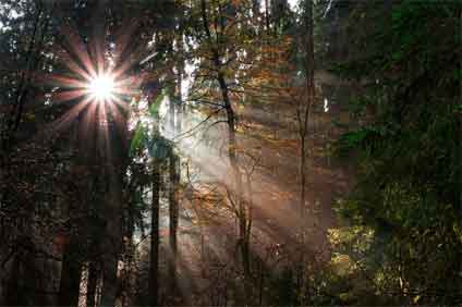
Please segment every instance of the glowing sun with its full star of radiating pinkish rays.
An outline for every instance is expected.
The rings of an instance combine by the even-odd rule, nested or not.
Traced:
[[[138,25],[136,22],[124,26],[111,41],[107,41],[104,28],[94,28],[84,38],[70,23],[61,27],[64,39],[53,53],[66,72],[50,71],[35,79],[49,88],[46,105],[52,108],[69,102],[71,107],[47,125],[44,137],[48,137],[48,133],[51,137],[59,136],[64,130],[76,127],[83,155],[100,151],[109,161],[112,133],[127,133],[129,101],[139,95],[147,76],[134,69],[143,48],[134,46],[130,39]],[[130,140],[121,139],[126,148]]]

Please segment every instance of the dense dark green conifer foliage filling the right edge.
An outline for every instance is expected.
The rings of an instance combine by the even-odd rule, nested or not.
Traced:
[[[369,290],[385,302],[460,304],[460,67],[454,67],[461,58],[461,2],[398,1],[370,9],[364,4],[354,12],[370,16],[363,25],[369,32],[356,46],[367,49],[336,67],[368,84],[354,106],[363,107],[363,124],[337,144],[339,154],[356,154],[361,169],[354,193],[339,204],[353,226],[343,229],[348,235],[338,236],[336,248],[361,263]],[[357,226],[373,231],[360,254],[357,241],[351,241]],[[353,290],[345,295],[349,303],[366,304]]]

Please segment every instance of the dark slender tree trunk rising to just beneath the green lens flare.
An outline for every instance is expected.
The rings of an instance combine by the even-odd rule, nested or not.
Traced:
[[[150,263],[149,263],[149,306],[158,305],[159,274],[159,207],[160,207],[160,169],[159,162],[153,161],[153,198],[150,212]]]

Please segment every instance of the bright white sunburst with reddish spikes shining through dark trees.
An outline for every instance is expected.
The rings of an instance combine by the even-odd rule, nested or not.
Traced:
[[[134,54],[126,57],[124,50],[130,35],[111,42],[97,37],[84,42],[71,27],[63,26],[62,30],[68,39],[66,48],[53,53],[68,71],[61,74],[51,72],[42,81],[53,88],[47,98],[51,107],[63,102],[70,102],[72,107],[46,131],[61,133],[81,118],[81,139],[101,139],[98,135],[102,135],[107,146],[109,123],[114,123],[119,131],[125,131],[123,112],[129,111],[127,101],[138,94],[142,83],[141,74],[129,74],[136,58]],[[93,135],[95,128],[102,130],[102,134]]]

